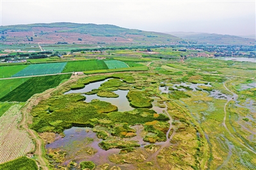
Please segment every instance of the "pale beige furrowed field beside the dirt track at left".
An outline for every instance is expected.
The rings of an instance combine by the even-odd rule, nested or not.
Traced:
[[[28,133],[18,128],[18,123],[22,119],[21,107],[22,104],[13,104],[0,117],[0,151],[4,153],[1,154],[0,164],[24,156],[35,148]]]

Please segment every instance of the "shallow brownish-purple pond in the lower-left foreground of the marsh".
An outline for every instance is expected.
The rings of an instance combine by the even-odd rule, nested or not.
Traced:
[[[67,151],[67,160],[64,164],[68,164],[71,160],[92,160],[96,164],[100,161],[109,162],[108,155],[119,153],[120,149],[102,150],[99,147],[102,139],[97,138],[95,132],[89,127],[72,127],[64,130],[65,137],[57,135],[56,141],[46,144],[47,150],[60,149]]]

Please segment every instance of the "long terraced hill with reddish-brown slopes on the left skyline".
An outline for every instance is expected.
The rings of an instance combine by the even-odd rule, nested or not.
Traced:
[[[2,26],[1,40],[12,43],[161,43],[170,44],[180,41],[173,35],[127,29],[108,24],[76,24],[57,22],[51,24],[26,24]]]

